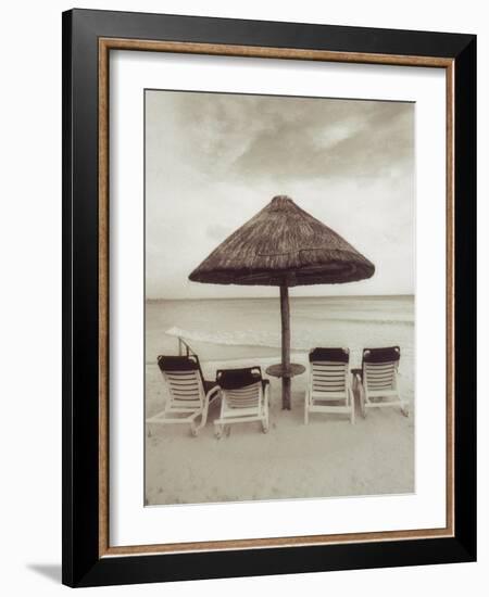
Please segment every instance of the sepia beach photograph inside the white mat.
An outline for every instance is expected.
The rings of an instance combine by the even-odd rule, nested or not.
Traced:
[[[146,89],[146,506],[415,492],[414,131]]]

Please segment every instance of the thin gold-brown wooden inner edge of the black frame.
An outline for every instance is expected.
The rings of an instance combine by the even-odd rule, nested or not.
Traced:
[[[299,547],[454,537],[454,77],[455,60],[328,50],[99,38],[98,59],[98,190],[99,190],[99,558],[130,555],[221,551],[229,549]],[[361,64],[425,66],[446,69],[447,164],[447,526],[412,531],[347,533],[155,545],[110,546],[109,534],[109,53],[110,50],[268,58]]]

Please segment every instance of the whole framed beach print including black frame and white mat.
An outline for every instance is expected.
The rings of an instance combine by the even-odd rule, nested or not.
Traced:
[[[63,582],[476,558],[472,35],[63,14]]]

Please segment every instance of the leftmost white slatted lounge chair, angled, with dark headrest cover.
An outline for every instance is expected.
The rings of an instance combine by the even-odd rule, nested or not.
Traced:
[[[158,366],[167,388],[164,410],[146,420],[149,424],[187,423],[197,436],[208,420],[209,404],[220,394],[216,383],[205,381],[196,355],[159,356]],[[200,424],[196,419],[201,417]]]

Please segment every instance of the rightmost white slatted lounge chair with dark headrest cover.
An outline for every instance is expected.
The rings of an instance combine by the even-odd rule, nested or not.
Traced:
[[[356,373],[363,417],[366,417],[367,408],[385,406],[400,406],[401,412],[409,416],[408,403],[402,399],[399,391],[400,358],[399,346],[364,348],[362,369]]]

